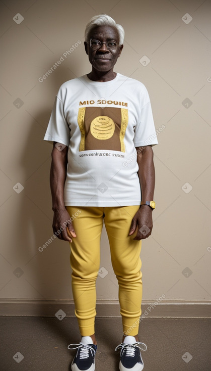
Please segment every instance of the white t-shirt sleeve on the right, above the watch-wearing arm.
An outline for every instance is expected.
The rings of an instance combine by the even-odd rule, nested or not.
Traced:
[[[148,101],[147,103],[145,103]],[[158,144],[152,107],[147,90],[145,91],[144,106],[140,111],[140,120],[134,129],[133,143],[135,147],[155,146]]]

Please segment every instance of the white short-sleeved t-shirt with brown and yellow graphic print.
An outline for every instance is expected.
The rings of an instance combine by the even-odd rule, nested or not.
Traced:
[[[87,75],[64,82],[44,140],[68,147],[65,206],[140,204],[135,147],[158,144],[142,82],[119,73],[107,82]]]

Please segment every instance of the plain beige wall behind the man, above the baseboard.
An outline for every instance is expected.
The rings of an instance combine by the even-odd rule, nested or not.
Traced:
[[[0,297],[72,298],[68,243],[55,240],[38,250],[52,236],[53,216],[52,147],[43,136],[59,86],[90,72],[84,29],[92,16],[105,12],[125,28],[116,71],[147,86],[156,128],[165,126],[154,147],[157,208],[153,235],[141,254],[143,299],[164,294],[166,300],[210,300],[211,3],[5,0],[0,7]],[[17,13],[24,17],[20,24],[13,20]],[[78,40],[73,53],[39,82]],[[146,66],[139,62],[145,55]],[[23,102],[19,108],[17,99]],[[17,183],[24,187],[20,193]],[[118,288],[105,230],[101,250],[108,274],[98,277],[98,299],[114,300]]]

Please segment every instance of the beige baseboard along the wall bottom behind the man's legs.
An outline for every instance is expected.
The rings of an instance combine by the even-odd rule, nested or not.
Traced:
[[[74,317],[73,300],[0,299],[1,316],[54,317],[61,309]],[[211,300],[162,300],[142,302],[142,317],[148,318],[210,318]],[[118,300],[97,300],[97,317],[120,317]]]

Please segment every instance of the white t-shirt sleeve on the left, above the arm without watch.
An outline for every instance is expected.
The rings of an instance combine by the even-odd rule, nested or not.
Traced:
[[[64,116],[64,107],[56,96],[44,141],[52,141],[69,147],[70,129]]]

